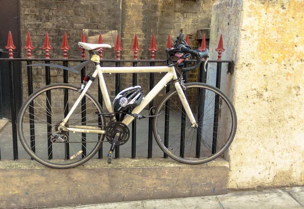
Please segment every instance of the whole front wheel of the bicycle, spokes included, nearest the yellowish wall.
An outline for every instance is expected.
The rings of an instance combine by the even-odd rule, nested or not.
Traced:
[[[154,136],[165,157],[200,164],[219,157],[232,143],[237,114],[230,99],[205,83],[187,83],[184,91],[198,124],[192,124],[176,90],[170,91],[156,109]]]

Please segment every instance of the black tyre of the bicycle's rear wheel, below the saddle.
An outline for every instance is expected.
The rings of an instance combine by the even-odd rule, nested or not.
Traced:
[[[25,151],[34,159],[36,160],[37,162],[43,164],[43,165],[46,165],[50,168],[54,168],[54,169],[70,169],[70,168],[74,168],[75,166],[79,166],[85,162],[87,162],[88,160],[90,160],[96,153],[97,151],[99,150],[99,148],[101,147],[102,145],[102,142],[104,140],[104,134],[101,135],[101,137],[99,138],[99,144],[96,145],[94,147],[94,150],[89,154],[87,155],[86,157],[82,158],[82,160],[78,161],[78,162],[74,162],[74,163],[68,163],[68,164],[64,164],[64,165],[55,165],[55,164],[52,164],[42,158],[40,158],[39,156],[37,156],[28,146],[27,146],[27,142],[24,138],[24,135],[22,133],[22,115],[24,114],[25,110],[26,110],[26,107],[29,105],[29,103],[32,101],[32,99],[34,99],[35,97],[39,96],[41,93],[44,93],[48,90],[46,89],[55,89],[56,87],[70,87],[70,88],[73,88],[73,89],[76,89],[76,90],[79,90],[80,87],[77,87],[77,86],[74,86],[74,85],[71,85],[69,83],[53,83],[51,85],[48,85],[48,86],[45,86],[45,87],[42,87],[40,89],[37,89],[35,92],[33,92],[23,103],[22,107],[20,108],[20,111],[19,111],[19,115],[18,115],[18,120],[17,120],[17,128],[18,128],[18,136],[19,136],[19,139],[20,139],[20,142],[23,146],[23,148],[25,149]],[[88,95],[92,101],[94,101],[96,103],[96,105],[98,106],[99,110],[100,110],[100,113],[103,113],[103,109],[101,107],[101,105],[99,104],[98,100],[92,95],[90,94],[89,92],[86,92],[86,95]],[[105,124],[105,117],[104,116],[101,116],[102,120],[103,120],[103,123],[102,124]],[[102,130],[104,130],[104,127],[101,127]]]

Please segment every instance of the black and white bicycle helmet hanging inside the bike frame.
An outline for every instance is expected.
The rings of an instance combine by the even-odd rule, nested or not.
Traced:
[[[126,112],[129,108],[140,105],[143,95],[140,86],[130,87],[121,91],[113,101],[114,112]]]

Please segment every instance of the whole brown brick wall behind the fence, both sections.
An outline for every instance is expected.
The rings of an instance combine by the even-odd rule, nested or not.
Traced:
[[[21,31],[22,46],[25,46],[26,34],[31,34],[32,58],[43,58],[45,52],[41,49],[44,45],[45,33],[49,33],[50,43],[53,50],[51,58],[62,58],[63,52],[59,48],[62,45],[63,33],[67,33],[68,43],[71,50],[69,58],[81,58],[77,43],[81,40],[83,29],[100,30],[107,32],[118,30],[121,34],[121,42],[124,50],[121,59],[133,59],[134,35],[137,33],[139,47],[138,59],[150,59],[151,35],[155,33],[157,48],[156,59],[165,59],[168,34],[172,41],[183,32],[189,34],[190,45],[194,48],[199,46],[196,41],[197,29],[210,26],[211,8],[214,0],[205,1],[147,1],[147,0],[21,0]],[[90,35],[90,33],[89,33]],[[25,50],[23,52],[26,55]],[[106,50],[104,58],[113,59],[112,50]],[[58,63],[61,64],[61,63]],[[71,63],[71,65],[77,63]],[[141,65],[139,63],[139,65]],[[148,65],[148,63],[144,63]],[[164,64],[161,64],[164,65]],[[26,69],[23,75],[24,98],[27,97]],[[87,72],[90,72],[87,70]],[[62,70],[51,69],[51,82],[62,82]],[[157,82],[163,74],[156,74]],[[105,75],[109,83],[109,93],[115,96],[115,75]],[[132,86],[132,75],[122,74],[121,90]],[[192,78],[192,79],[191,79]],[[80,75],[69,73],[69,82],[80,83]],[[196,79],[196,72],[189,74],[189,81]],[[148,92],[149,74],[138,74],[138,85]],[[34,89],[45,85],[44,68],[33,69]],[[97,82],[91,92],[97,94]],[[161,95],[164,94],[164,91]]]

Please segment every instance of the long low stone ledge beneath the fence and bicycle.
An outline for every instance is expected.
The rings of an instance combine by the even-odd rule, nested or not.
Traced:
[[[55,170],[32,160],[0,161],[0,208],[28,208],[194,197],[227,193],[229,162],[201,165],[171,159],[92,159]]]

